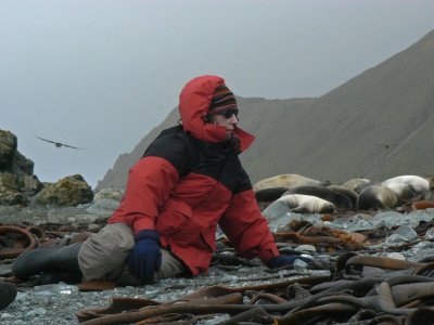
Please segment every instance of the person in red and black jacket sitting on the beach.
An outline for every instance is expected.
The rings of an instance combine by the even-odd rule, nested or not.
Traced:
[[[278,252],[239,159],[254,136],[239,128],[237,100],[225,80],[189,81],[179,113],[181,125],[164,130],[130,169],[108,224],[73,247],[20,256],[15,276],[61,268],[87,281],[130,285],[197,275],[209,268],[218,225],[241,256],[259,257],[268,268],[309,262]]]

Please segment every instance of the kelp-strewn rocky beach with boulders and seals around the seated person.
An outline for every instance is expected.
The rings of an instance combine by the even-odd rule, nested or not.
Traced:
[[[310,257],[309,264],[269,270],[238,256],[219,231],[209,272],[194,278],[141,287],[23,282],[12,274],[22,251],[86,239],[106,224],[124,191],[93,193],[80,176],[39,182],[14,135],[1,134],[0,281],[17,288],[1,324],[432,324],[430,178],[330,184],[284,174],[256,183],[252,204],[280,253]],[[405,186],[395,193],[394,184]]]

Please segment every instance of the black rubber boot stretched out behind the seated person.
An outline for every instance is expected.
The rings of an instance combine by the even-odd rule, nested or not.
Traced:
[[[78,268],[78,251],[82,243],[68,246],[37,248],[21,253],[12,265],[12,273],[22,281],[44,273],[73,273],[81,276]]]

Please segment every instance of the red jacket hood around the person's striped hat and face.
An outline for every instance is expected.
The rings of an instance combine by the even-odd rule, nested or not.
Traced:
[[[226,141],[226,128],[204,121],[208,114],[210,100],[217,87],[226,84],[225,79],[217,76],[196,77],[183,87],[179,95],[179,113],[182,119],[183,130],[196,139],[212,143]],[[240,139],[240,150],[245,151],[255,136],[235,128],[235,135]]]

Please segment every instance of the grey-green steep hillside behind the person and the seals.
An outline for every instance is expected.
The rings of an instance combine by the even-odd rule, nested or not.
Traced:
[[[434,174],[434,31],[318,99],[239,98],[241,126],[256,135],[241,156],[252,181],[301,173],[333,183],[397,174]],[[124,187],[128,169],[169,116],[127,155],[97,188]]]

